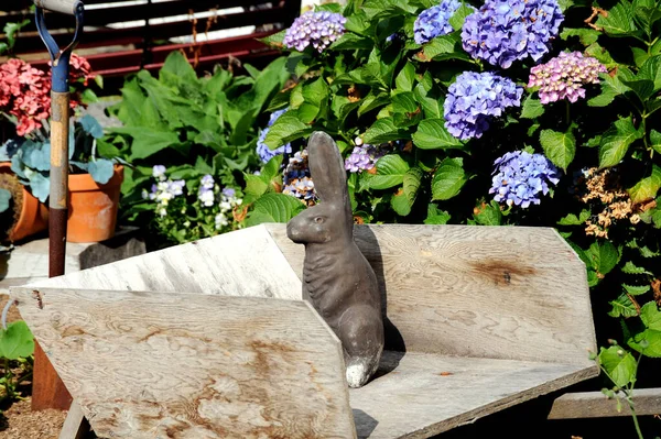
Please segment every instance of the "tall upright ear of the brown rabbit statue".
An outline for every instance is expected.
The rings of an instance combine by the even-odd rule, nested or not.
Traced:
[[[322,131],[313,133],[307,143],[307,161],[322,201],[349,205],[347,173],[333,138]]]

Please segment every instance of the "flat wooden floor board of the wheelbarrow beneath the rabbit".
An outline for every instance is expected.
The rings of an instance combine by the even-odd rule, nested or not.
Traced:
[[[379,369],[349,391],[361,439],[429,438],[594,376],[571,364],[391,351]]]

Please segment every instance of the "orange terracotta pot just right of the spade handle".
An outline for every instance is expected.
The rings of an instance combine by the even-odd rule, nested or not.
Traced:
[[[89,174],[69,175],[68,242],[100,242],[115,235],[123,166],[115,166],[115,175],[99,185]]]

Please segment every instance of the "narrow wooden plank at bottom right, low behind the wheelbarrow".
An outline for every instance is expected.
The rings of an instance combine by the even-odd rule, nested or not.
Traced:
[[[661,388],[636,388],[633,391],[636,415],[661,415]],[[622,400],[608,399],[602,392],[567,393],[553,402],[549,419],[582,419],[631,416],[629,405]]]

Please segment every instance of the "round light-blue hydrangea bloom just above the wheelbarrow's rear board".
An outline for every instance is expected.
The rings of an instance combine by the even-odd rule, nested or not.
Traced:
[[[543,154],[530,154],[525,151],[507,153],[494,162],[494,179],[489,194],[494,199],[508,206],[523,209],[531,204],[539,205],[540,194],[549,193],[549,184],[560,180],[557,168]]]

